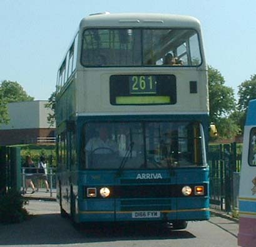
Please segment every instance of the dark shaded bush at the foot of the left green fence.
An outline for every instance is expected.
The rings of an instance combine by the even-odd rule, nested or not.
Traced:
[[[24,208],[26,199],[16,190],[9,190],[0,196],[0,222],[19,223],[26,220],[28,211]]]

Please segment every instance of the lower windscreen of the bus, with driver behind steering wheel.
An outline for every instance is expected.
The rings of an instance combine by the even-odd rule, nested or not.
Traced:
[[[85,123],[84,168],[166,169],[203,165],[197,122]]]

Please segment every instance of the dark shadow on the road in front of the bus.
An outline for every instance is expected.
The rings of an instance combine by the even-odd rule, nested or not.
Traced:
[[[74,228],[59,214],[32,216],[14,225],[0,225],[0,245],[50,245],[124,240],[168,240],[195,238],[186,230],[172,231],[163,225],[115,224]]]

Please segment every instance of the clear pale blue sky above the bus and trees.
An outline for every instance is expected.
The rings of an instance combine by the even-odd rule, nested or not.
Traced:
[[[94,12],[155,12],[197,17],[207,63],[237,87],[256,74],[254,0],[1,0],[0,81],[16,80],[35,99],[48,99],[79,21]]]

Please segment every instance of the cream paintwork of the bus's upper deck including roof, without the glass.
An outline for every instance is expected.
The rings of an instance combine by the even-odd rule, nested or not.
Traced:
[[[200,39],[202,65],[200,67],[118,67],[89,68],[80,64],[81,39],[84,29],[90,27],[159,27],[159,28],[192,28],[197,30]],[[84,18],[80,22],[78,33],[78,56],[76,70],[73,74],[74,84],[71,89],[70,79],[60,93],[61,104],[56,110],[58,125],[73,115],[125,115],[133,114],[208,114],[207,65],[203,51],[200,22],[194,17],[172,14],[99,14]],[[61,63],[62,64],[62,63]],[[177,104],[175,105],[111,105],[110,75],[113,74],[173,74],[177,78]],[[190,94],[190,80],[198,83],[198,93]],[[74,99],[72,103],[66,92]],[[60,96],[59,95],[59,96]],[[199,96],[199,97],[198,97]],[[66,105],[71,104],[66,110]]]

